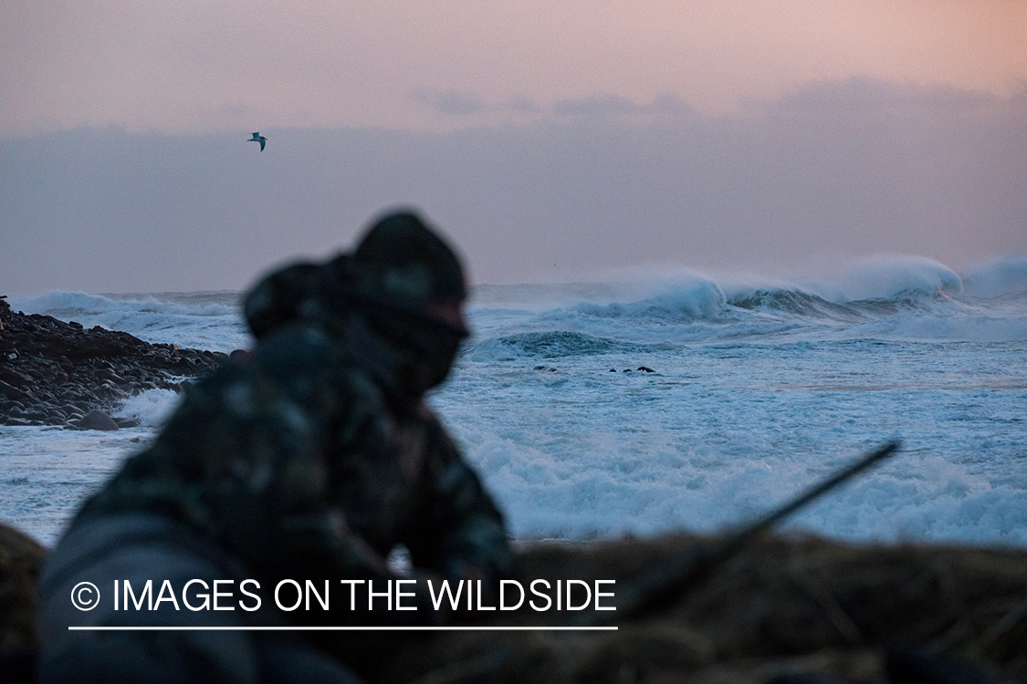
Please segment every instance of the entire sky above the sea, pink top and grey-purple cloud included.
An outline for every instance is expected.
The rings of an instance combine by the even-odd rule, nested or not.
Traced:
[[[478,282],[1024,254],[1027,0],[0,0],[0,293],[239,289],[394,205]]]

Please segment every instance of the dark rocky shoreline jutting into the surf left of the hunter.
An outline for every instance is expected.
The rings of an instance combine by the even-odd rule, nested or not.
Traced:
[[[13,312],[0,296],[0,426],[116,430],[121,403],[147,390],[182,391],[228,359],[221,352],[153,345],[127,332]]]

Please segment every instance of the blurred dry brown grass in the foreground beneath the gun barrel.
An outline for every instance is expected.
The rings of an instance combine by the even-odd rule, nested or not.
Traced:
[[[710,541],[529,545],[522,577],[616,579],[620,589]],[[508,623],[556,625],[568,613],[506,615]],[[795,672],[880,680],[885,649],[918,643],[1023,679],[1027,551],[769,537],[646,618],[613,623],[618,631],[444,633],[402,649],[392,635],[381,649],[368,640],[357,652],[374,663],[369,678],[389,683],[756,684]]]

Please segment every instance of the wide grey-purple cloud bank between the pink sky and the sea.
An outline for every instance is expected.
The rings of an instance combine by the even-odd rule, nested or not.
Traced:
[[[1027,88],[943,94],[843,81],[732,116],[595,97],[448,132],[275,128],[262,154],[253,128],[0,138],[0,293],[237,289],[401,204],[477,282],[1027,251]]]

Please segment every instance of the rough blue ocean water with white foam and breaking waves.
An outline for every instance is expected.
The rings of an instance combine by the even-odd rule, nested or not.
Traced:
[[[11,304],[230,352],[249,345],[237,301],[50,292]],[[1025,257],[965,273],[882,257],[820,279],[662,269],[481,285],[469,311],[474,336],[429,401],[518,537],[722,530],[900,438],[898,456],[786,529],[1027,546]],[[116,433],[0,428],[0,519],[52,544],[176,400],[132,398],[121,413],[143,425]]]

